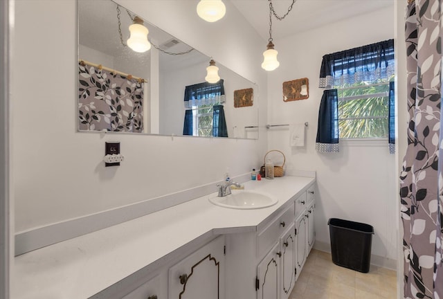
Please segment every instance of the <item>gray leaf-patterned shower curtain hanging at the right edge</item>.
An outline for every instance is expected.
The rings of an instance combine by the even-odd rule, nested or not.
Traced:
[[[410,120],[400,175],[405,298],[443,299],[442,3],[409,1],[406,14]]]

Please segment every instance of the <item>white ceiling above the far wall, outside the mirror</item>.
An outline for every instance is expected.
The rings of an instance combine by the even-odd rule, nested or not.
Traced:
[[[230,0],[263,39],[269,39],[268,0]],[[282,16],[292,0],[273,0],[275,12]],[[296,0],[282,21],[272,19],[272,37],[280,39],[381,8],[394,7],[394,0]],[[392,10],[393,13],[393,10]]]

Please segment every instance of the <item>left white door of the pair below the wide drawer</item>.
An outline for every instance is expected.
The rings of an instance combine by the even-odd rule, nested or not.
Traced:
[[[280,257],[279,244],[275,243],[271,251],[257,266],[255,289],[257,299],[280,299]]]

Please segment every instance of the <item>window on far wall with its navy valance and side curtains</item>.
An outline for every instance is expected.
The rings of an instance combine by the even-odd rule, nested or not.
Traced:
[[[395,152],[394,40],[323,56],[316,149],[339,152],[343,138],[388,138]]]

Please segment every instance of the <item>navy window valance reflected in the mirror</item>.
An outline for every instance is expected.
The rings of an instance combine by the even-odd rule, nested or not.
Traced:
[[[223,79],[217,83],[203,82],[185,87],[186,109],[192,109],[193,106],[223,104],[225,101]]]

